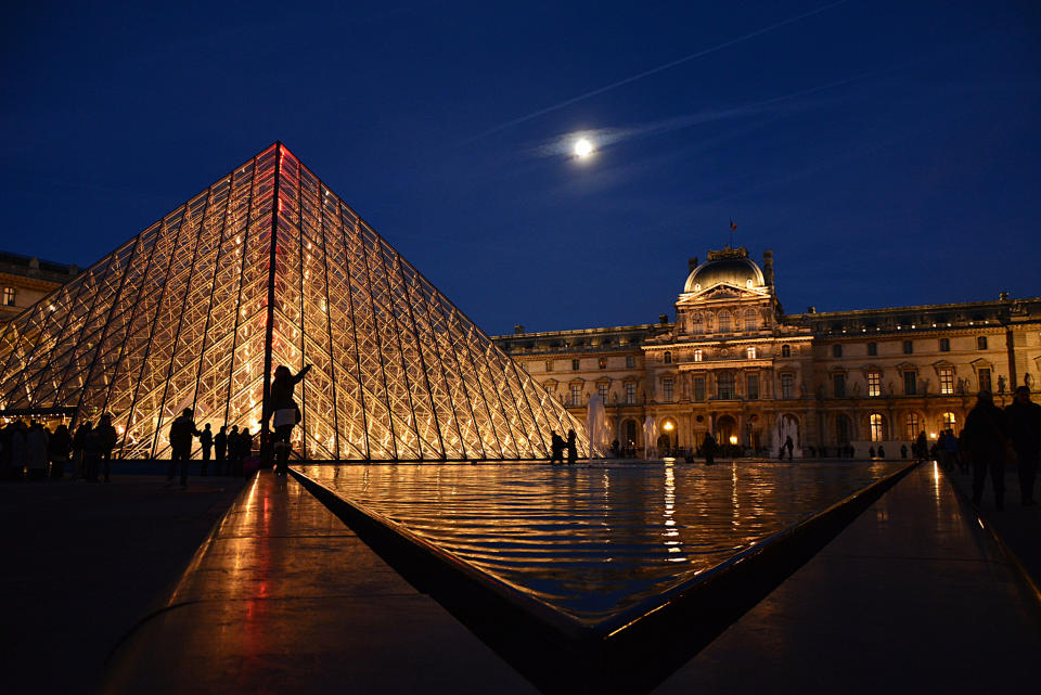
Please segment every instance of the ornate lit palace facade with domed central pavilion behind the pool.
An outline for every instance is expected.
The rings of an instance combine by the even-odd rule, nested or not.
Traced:
[[[980,389],[1011,402],[1041,377],[1041,297],[784,313],[773,254],[745,248],[689,261],[676,322],[493,339],[577,419],[601,396],[621,447],[720,443],[795,456],[900,448],[958,433]],[[655,441],[644,442],[654,419]]]

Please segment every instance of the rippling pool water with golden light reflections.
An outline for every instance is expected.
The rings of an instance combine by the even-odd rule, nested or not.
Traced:
[[[744,462],[303,469],[519,591],[595,622],[901,467]]]

